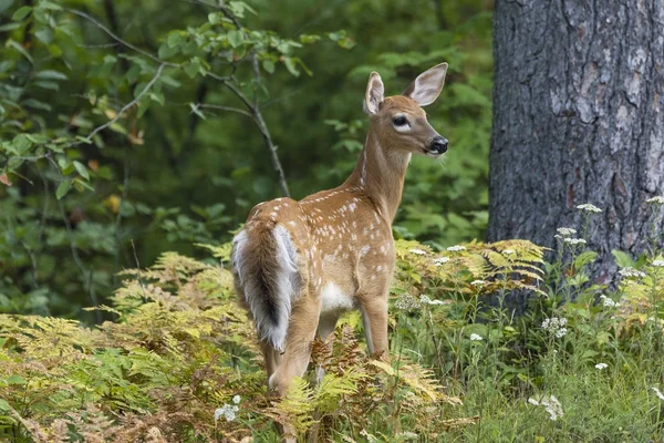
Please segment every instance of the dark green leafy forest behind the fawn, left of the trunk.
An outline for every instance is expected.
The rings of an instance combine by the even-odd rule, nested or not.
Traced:
[[[433,247],[484,238],[491,10],[0,0],[0,311],[80,317],[124,268],[206,256],[195,244],[228,241],[283,194],[270,148],[292,197],[336,186],[362,147],[372,70],[397,94],[450,66],[427,109],[450,151],[414,158],[395,231]]]

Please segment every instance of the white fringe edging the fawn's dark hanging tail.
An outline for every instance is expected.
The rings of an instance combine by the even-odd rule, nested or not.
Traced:
[[[270,342],[274,349],[283,351],[292,302],[300,292],[298,255],[288,230],[283,226],[277,225],[272,236],[274,237],[277,255],[274,261],[278,264],[278,269],[274,270],[277,274],[276,295],[261,293],[257,276],[245,271],[245,259],[248,254],[251,254],[251,250],[246,248],[248,237],[243,229],[234,238],[235,254],[232,261],[245,292],[245,299],[253,316],[259,338]],[[268,297],[274,302],[274,310],[278,315],[277,324],[269,318],[269,312],[264,308],[264,300]]]

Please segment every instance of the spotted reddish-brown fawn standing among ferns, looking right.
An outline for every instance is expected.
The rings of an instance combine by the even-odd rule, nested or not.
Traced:
[[[371,125],[351,176],[300,202],[257,205],[235,237],[236,288],[256,323],[268,384],[279,394],[307,371],[317,331],[325,339],[345,310],[362,311],[371,353],[387,350],[392,222],[411,155],[447,151],[421,107],[438,97],[446,71],[447,63],[438,64],[388,97],[372,72],[364,95]]]

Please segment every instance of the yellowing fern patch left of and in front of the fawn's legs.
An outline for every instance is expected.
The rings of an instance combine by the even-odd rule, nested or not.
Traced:
[[[225,256],[228,247],[210,249]],[[370,424],[361,411],[403,398],[409,403],[404,420],[411,421],[424,419],[438,402],[460,404],[444,394],[432,371],[405,358],[367,359],[347,324],[338,330],[330,353],[315,346],[314,360],[326,371],[321,383],[312,388],[297,380],[283,400],[270,402],[255,331],[236,305],[228,270],[167,253],[148,269],[122,274],[128,278],[111,298],[112,307],[100,308],[115,320],[98,327],[0,317],[3,435],[13,441],[274,439],[272,421],[299,433],[317,422],[325,424],[323,432],[359,433]]]

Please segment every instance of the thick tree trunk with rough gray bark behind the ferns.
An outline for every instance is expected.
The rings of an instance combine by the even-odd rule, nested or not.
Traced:
[[[594,280],[643,253],[664,195],[664,0],[497,0],[489,240],[553,246],[592,203]],[[662,246],[662,237],[658,239]]]

